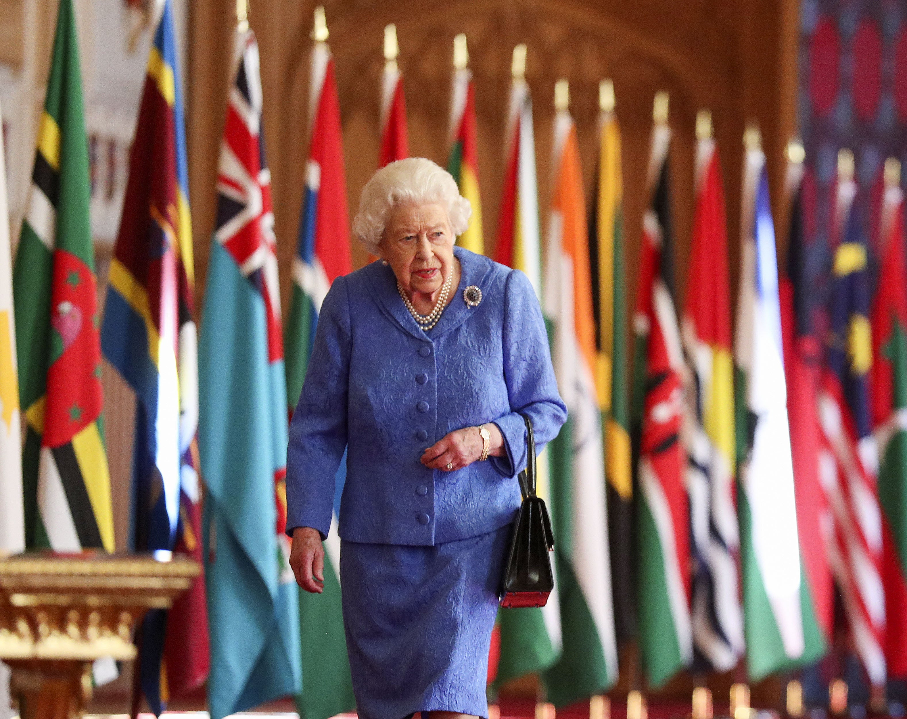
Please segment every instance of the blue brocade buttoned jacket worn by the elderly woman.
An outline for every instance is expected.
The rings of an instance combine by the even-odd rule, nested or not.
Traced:
[[[541,307],[529,278],[454,248],[462,278],[427,334],[380,262],[338,277],[318,316],[306,382],[289,428],[287,532],[327,537],[344,450],[341,539],[434,546],[497,530],[520,506],[532,417],[537,451],[567,419]],[[482,290],[467,306],[463,289]],[[430,470],[424,449],[448,432],[493,422],[505,456]]]

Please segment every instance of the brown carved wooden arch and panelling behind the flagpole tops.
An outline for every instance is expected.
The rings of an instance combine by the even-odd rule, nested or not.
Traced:
[[[253,0],[251,5],[251,24],[262,55],[268,160],[287,300],[307,153],[308,34],[316,4]],[[190,167],[201,281],[213,224],[234,6],[234,0],[195,0],[190,10]],[[624,137],[631,278],[647,203],[644,168],[656,91],[668,90],[671,96],[678,267],[686,267],[688,256],[698,109],[713,113],[735,265],[741,137],[748,120],[758,121],[763,130],[775,195],[780,197],[781,151],[794,131],[796,0],[329,0],[325,8],[328,42],[336,58],[351,217],[359,190],[376,169],[387,23],[396,24],[400,42],[410,150],[441,163],[447,151],[453,36],[463,32],[468,37],[477,87],[479,172],[489,248],[497,228],[510,60],[518,43],[526,43],[529,50],[526,76],[533,93],[542,219],[549,194],[554,83],[561,77],[571,82],[571,112],[591,182],[598,83],[604,77],[614,80]],[[780,203],[776,207],[780,209]],[[354,248],[354,261],[356,265],[365,261],[360,248]],[[678,273],[681,290],[683,274]],[[632,285],[631,279],[631,293]]]

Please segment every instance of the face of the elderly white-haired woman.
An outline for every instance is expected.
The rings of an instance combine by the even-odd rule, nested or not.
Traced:
[[[454,239],[443,205],[405,204],[391,212],[379,248],[406,292],[432,294],[453,272]]]

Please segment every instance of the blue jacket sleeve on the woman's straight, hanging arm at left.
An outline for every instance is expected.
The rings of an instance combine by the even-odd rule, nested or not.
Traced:
[[[321,305],[306,382],[289,425],[287,534],[311,527],[327,538],[335,473],[346,449],[346,397],[352,344],[346,279],[337,277]]]

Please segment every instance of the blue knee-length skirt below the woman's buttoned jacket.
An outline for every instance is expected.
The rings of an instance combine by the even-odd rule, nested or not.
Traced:
[[[340,587],[356,711],[488,716],[488,650],[511,525],[405,547],[344,541]]]

